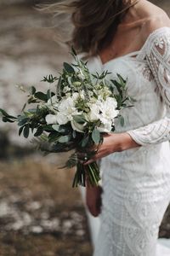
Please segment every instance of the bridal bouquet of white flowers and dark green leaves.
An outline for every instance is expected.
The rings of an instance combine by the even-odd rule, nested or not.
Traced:
[[[107,81],[107,71],[90,73],[74,49],[71,54],[75,62],[64,62],[59,77],[50,74],[42,79],[49,84],[45,93],[31,86],[18,116],[3,109],[0,113],[3,122],[18,123],[19,135],[27,138],[33,133],[38,149],[46,153],[73,150],[65,163],[69,168],[77,166],[72,186],[86,186],[87,180],[94,186],[99,183],[99,166],[96,162],[85,166],[83,161],[97,152],[105,133],[115,130],[116,118],[123,125],[119,111],[129,107],[132,98],[127,96],[127,81],[121,75]],[[35,107],[27,108],[29,104]]]

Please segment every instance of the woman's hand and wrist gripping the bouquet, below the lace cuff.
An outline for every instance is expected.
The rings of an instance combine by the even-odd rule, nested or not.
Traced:
[[[84,165],[88,165],[96,160],[99,160],[108,154],[139,146],[140,145],[135,143],[133,138],[130,137],[127,132],[107,134],[104,137],[103,143],[99,146],[98,151],[96,154],[94,154],[94,157],[84,162]]]

